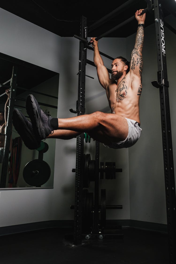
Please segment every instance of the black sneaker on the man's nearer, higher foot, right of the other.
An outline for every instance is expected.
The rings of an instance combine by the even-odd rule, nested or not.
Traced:
[[[26,111],[31,119],[34,133],[40,140],[51,134],[54,130],[50,124],[52,117],[45,114],[33,95],[28,95],[26,98]]]

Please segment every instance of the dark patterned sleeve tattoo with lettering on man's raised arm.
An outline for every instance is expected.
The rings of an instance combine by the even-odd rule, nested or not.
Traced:
[[[142,47],[144,43],[144,27],[139,26],[137,28],[135,47],[131,53],[130,69],[134,70],[135,67],[139,66],[139,74],[142,74],[143,61],[142,61]]]

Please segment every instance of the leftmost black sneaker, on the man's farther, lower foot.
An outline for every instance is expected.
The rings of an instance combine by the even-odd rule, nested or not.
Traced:
[[[13,110],[12,123],[28,149],[40,147],[41,140],[36,138],[31,122],[17,109]]]

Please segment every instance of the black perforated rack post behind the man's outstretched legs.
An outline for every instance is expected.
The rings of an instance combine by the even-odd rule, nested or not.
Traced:
[[[80,23],[80,37],[87,39],[87,18],[82,16]],[[71,112],[78,115],[85,113],[85,66],[87,50],[84,43],[79,44],[79,72],[78,72],[78,101],[77,110]],[[77,136],[76,167],[75,167],[75,206],[74,206],[74,234],[73,243],[82,243],[82,193],[83,193],[83,169],[84,169],[84,133]]]

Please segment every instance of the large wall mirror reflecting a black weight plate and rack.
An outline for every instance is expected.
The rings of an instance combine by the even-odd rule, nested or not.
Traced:
[[[7,90],[11,90],[14,67],[17,74],[13,109],[20,110],[30,121],[25,103],[27,95],[33,94],[44,112],[57,116],[59,74],[0,53],[0,189],[53,188],[55,139],[45,139],[39,148],[31,150],[13,125],[10,139],[7,137],[8,123],[12,122]],[[7,114],[4,116],[5,107],[8,120]]]

